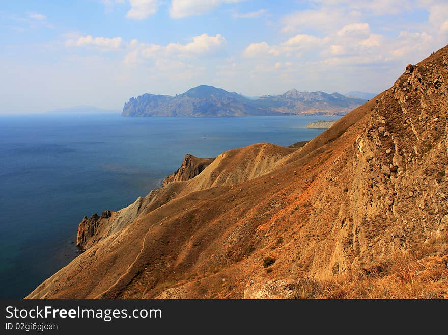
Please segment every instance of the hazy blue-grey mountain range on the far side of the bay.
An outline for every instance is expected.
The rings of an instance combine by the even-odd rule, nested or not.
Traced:
[[[143,94],[130,98],[123,116],[265,116],[292,114],[345,114],[367,99],[340,93],[299,92],[249,98],[221,88],[201,85],[176,96]]]

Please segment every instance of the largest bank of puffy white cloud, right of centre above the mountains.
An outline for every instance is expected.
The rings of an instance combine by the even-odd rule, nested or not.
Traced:
[[[323,37],[297,34],[279,44],[251,43],[243,51],[245,58],[256,59],[259,69],[268,68],[269,57],[276,57],[276,65],[269,68],[283,69],[281,64],[290,59],[314,64],[378,64],[398,60],[412,54],[425,44],[431,44],[427,33],[400,34],[399,38],[386,38],[373,33],[366,22],[346,24]]]

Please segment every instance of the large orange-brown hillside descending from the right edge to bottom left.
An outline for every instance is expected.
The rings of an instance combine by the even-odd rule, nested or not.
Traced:
[[[218,156],[27,298],[447,298],[447,80],[444,47],[303,147]]]

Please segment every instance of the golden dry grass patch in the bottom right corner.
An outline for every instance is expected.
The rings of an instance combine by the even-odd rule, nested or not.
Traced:
[[[448,234],[373,269],[295,286],[297,299],[448,299]]]

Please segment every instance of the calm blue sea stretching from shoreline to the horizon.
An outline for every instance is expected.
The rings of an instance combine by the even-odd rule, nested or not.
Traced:
[[[22,298],[68,264],[83,215],[147,195],[184,154],[290,145],[321,133],[307,122],[330,119],[0,116],[0,298]]]

